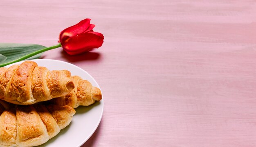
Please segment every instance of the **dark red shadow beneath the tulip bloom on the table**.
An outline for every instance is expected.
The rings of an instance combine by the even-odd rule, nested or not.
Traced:
[[[87,53],[81,53],[79,55],[69,55],[65,51],[61,51],[61,55],[63,58],[67,59],[70,62],[98,60],[101,57],[101,54],[92,51],[89,51]]]

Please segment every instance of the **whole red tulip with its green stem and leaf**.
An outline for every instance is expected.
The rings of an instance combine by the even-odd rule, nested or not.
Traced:
[[[86,18],[85,20],[80,21],[78,24],[68,27],[61,31],[58,40],[59,43],[51,47],[29,44],[28,47],[26,48],[23,47],[24,45],[21,45],[22,47],[20,47],[19,45],[14,44],[14,46],[18,50],[16,49],[16,54],[13,55],[12,53],[10,56],[9,49],[13,49],[13,47],[8,46],[12,46],[13,44],[0,44],[0,67],[21,60],[25,60],[39,53],[43,53],[44,51],[56,49],[58,47],[62,47],[63,50],[70,55],[77,55],[101,47],[101,45],[103,44],[104,36],[101,33],[94,32],[92,30],[95,27],[95,25],[90,24],[90,20],[91,19]],[[7,47],[2,45],[6,45]],[[25,54],[27,52],[28,54]],[[4,60],[6,61],[4,62]]]

